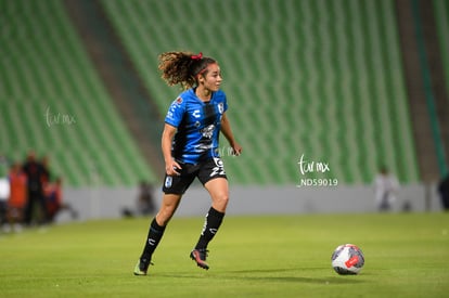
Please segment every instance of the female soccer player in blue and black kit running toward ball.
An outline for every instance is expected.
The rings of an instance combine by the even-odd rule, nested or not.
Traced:
[[[218,63],[211,57],[203,57],[202,53],[166,52],[159,55],[158,68],[168,86],[181,85],[187,90],[171,103],[165,117],[163,202],[150,224],[143,252],[134,268],[136,275],[146,275],[165,228],[195,178],[208,191],[211,207],[190,258],[200,268],[209,269],[207,245],[220,228],[229,199],[228,180],[218,147],[220,131],[234,155],[242,152],[226,115],[228,103],[220,90],[222,77]]]

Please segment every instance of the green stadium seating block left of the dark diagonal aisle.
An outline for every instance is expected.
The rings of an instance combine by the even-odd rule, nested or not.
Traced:
[[[63,4],[0,1],[1,153],[15,161],[31,148],[48,155],[70,186],[155,181]]]

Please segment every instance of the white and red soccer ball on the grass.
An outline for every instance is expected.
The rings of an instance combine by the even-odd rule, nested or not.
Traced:
[[[343,244],[332,254],[332,267],[341,275],[358,274],[364,264],[361,249],[354,244]]]

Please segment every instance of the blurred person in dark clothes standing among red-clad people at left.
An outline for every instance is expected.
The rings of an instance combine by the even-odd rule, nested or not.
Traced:
[[[23,166],[27,177],[28,202],[25,206],[24,223],[30,225],[34,221],[35,206],[40,207],[41,217],[38,223],[44,223],[47,216],[46,200],[43,197],[43,185],[48,182],[49,171],[36,160],[35,152],[29,152]]]

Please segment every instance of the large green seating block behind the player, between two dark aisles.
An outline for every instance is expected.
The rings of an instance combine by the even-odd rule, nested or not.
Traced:
[[[385,164],[419,180],[394,1],[102,3],[163,115],[179,90],[161,80],[159,53],[219,61],[244,147],[224,156],[232,182],[296,183],[302,154],[331,169],[306,178],[370,183]]]

